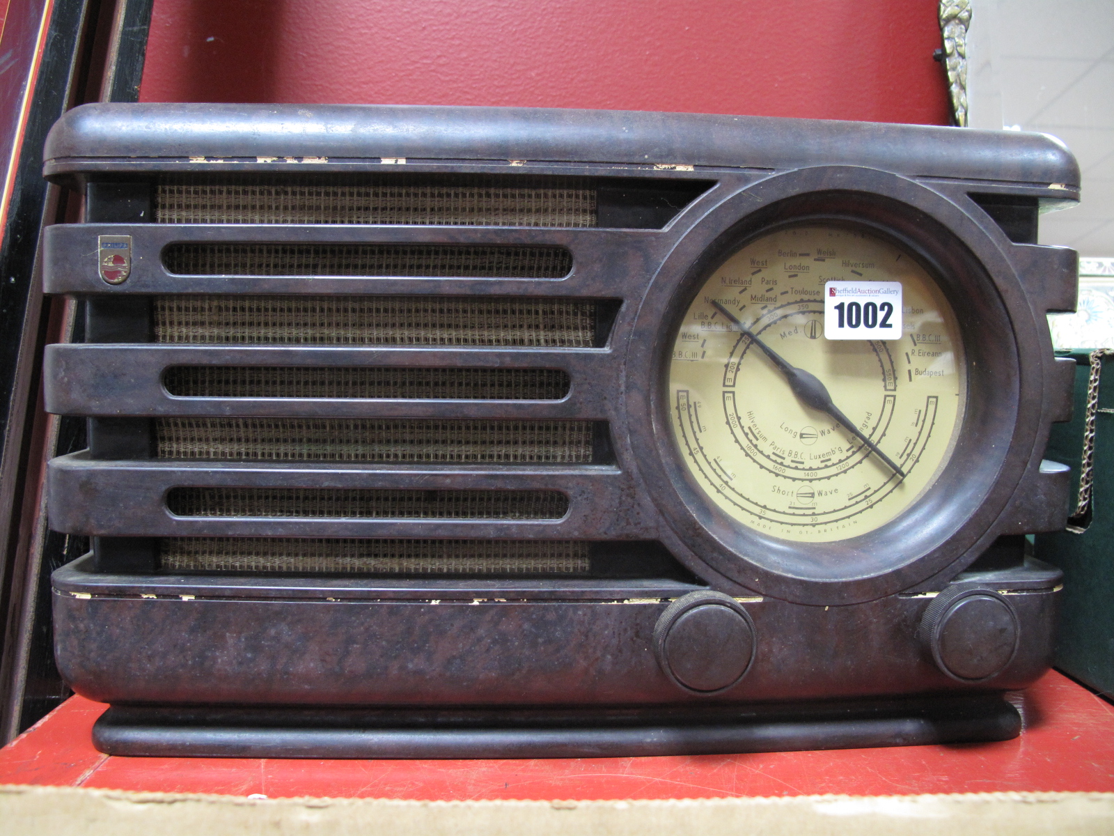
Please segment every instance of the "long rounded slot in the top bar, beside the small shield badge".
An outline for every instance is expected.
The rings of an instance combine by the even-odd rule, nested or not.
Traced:
[[[563,279],[573,254],[559,246],[179,243],[163,251],[163,264],[183,275]]]

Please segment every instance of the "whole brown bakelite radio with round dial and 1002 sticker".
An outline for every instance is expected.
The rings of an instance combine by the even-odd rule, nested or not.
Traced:
[[[1047,669],[1049,137],[88,105],[60,670],[123,755],[1003,739]]]

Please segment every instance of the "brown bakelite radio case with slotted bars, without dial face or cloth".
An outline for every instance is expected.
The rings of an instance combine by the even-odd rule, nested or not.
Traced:
[[[55,126],[46,159],[87,201],[82,223],[45,239],[47,292],[87,310],[86,342],[48,347],[45,380],[49,411],[90,418],[90,450],[51,461],[48,490],[52,528],[94,537],[94,554],[53,575],[55,629],[66,680],[113,704],[102,750],[647,755],[1019,731],[1000,694],[1047,669],[1061,577],[1026,555],[1024,535],[1067,514],[1067,468],[1042,460],[1074,373],[1053,356],[1045,314],[1073,309],[1076,254],[1036,244],[1038,213],[1078,200],[1056,140],[651,113],[88,105]],[[576,176],[613,197],[590,229],[150,223],[152,182],[197,172]],[[623,195],[639,189],[657,197],[632,208]],[[671,437],[664,372],[704,271],[763,229],[808,220],[916,254],[959,317],[970,395],[956,454],[912,507],[870,535],[805,547],[741,531],[702,499]],[[130,236],[115,284],[100,271],[104,235]],[[548,245],[573,269],[190,276],[162,257],[182,242]],[[614,319],[583,349],[154,343],[147,300],[189,293],[582,298]],[[555,401],[173,397],[163,375],[183,364],[540,367],[571,387]],[[185,461],[152,457],[160,416],[585,419],[603,440],[576,466]],[[546,488],[569,506],[547,522],[202,518],[167,511],[177,486]],[[583,539],[620,552],[628,571],[160,571],[152,544],[179,536]]]

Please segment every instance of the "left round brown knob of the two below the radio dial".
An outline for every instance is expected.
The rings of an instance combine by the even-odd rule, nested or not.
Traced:
[[[690,592],[654,628],[654,652],[666,675],[687,691],[716,693],[739,682],[754,658],[754,623],[721,592]]]

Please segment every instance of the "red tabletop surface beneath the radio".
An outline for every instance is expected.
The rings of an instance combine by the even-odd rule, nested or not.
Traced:
[[[108,757],[89,738],[106,707],[74,697],[0,750],[0,784],[447,800],[1114,791],[1114,706],[1056,672],[1012,699],[1025,731],[998,743],[655,758],[275,760]]]

